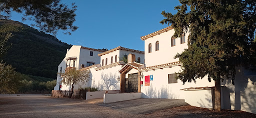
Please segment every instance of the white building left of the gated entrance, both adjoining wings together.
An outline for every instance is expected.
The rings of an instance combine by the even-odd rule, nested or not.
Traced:
[[[89,70],[90,77],[85,84],[75,84],[74,89],[79,87],[98,87],[100,90],[119,90],[118,70],[126,64],[122,61],[129,53],[136,55],[136,61],[144,63],[144,51],[129,49],[118,46],[108,51],[73,45],[67,49],[65,58],[58,65],[57,83],[54,90],[70,90],[71,86],[60,83],[60,73],[66,68],[75,67],[79,70]]]

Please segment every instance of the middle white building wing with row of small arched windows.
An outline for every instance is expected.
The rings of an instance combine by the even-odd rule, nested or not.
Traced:
[[[80,70],[90,70],[89,86],[98,87],[100,90],[119,90],[119,72],[126,62],[123,58],[132,53],[136,61],[144,63],[144,51],[118,46],[108,51],[99,53],[100,64],[95,64]]]

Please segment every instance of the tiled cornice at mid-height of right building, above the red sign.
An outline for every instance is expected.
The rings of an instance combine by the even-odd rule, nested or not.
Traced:
[[[180,66],[181,64],[182,64],[182,63],[180,63],[180,61],[176,61],[176,62],[170,62],[170,63],[166,63],[166,64],[159,64],[159,65],[154,65],[154,66],[139,68],[138,71],[147,71],[147,70],[154,70],[154,69],[162,69],[162,68],[165,68],[165,67]]]

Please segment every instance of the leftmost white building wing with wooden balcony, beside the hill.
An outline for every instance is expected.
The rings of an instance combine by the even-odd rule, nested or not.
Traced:
[[[57,83],[54,90],[67,90],[71,89],[70,86],[60,83],[62,80],[60,74],[65,72],[66,68],[80,69],[86,66],[97,64],[100,62],[100,57],[97,55],[105,50],[94,49],[84,47],[80,45],[73,45],[70,49],[67,49],[66,55],[58,65]],[[74,88],[78,88],[79,85],[74,85]]]

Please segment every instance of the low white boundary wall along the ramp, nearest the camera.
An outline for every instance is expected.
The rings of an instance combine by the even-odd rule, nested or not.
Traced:
[[[131,99],[141,98],[142,93],[112,93],[104,94],[103,103],[111,103],[116,101],[125,101]]]

